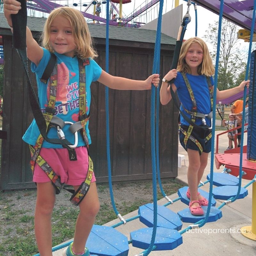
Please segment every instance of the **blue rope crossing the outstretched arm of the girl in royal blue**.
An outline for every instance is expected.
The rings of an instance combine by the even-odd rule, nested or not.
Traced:
[[[216,64],[215,64],[215,74],[214,74],[213,107],[212,107],[213,110],[216,109],[216,95],[217,95],[218,68],[219,68],[219,59],[220,59],[220,38],[221,38],[223,6],[224,6],[224,0],[221,0],[220,1],[219,28],[218,28],[218,44],[217,44]],[[208,207],[207,207],[206,216],[205,216],[204,220],[198,225],[199,227],[203,227],[204,224],[207,222],[209,214],[210,214],[210,210],[211,210],[211,205],[212,205],[215,118],[216,118],[216,112],[212,111],[212,148],[211,148],[211,171],[210,171],[209,203],[208,203]]]

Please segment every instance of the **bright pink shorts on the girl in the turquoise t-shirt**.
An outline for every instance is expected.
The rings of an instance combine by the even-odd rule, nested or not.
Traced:
[[[72,186],[80,186],[86,179],[89,165],[88,150],[86,146],[76,148],[76,161],[70,161],[66,148],[41,148],[40,156],[52,167],[52,170],[60,176],[61,183]],[[38,164],[35,164],[34,182],[50,181],[47,174]],[[95,182],[94,173],[92,181]]]

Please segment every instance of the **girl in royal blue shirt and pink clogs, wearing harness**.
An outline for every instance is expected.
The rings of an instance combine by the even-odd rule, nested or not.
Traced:
[[[189,119],[193,119],[197,126],[203,126],[205,122],[208,127],[211,127],[211,120],[196,117],[195,110],[202,116],[211,113],[213,74],[214,66],[207,45],[201,38],[189,38],[181,47],[177,70],[170,70],[163,78],[160,89],[161,103],[165,105],[172,99],[170,92],[170,86],[172,86],[173,92],[178,92],[181,102],[180,112]],[[170,84],[169,81],[173,78],[174,82]],[[217,100],[226,99],[243,91],[244,86],[249,87],[249,82],[249,80],[243,81],[239,86],[225,91],[217,89]],[[193,127],[182,115],[180,123],[180,143],[187,151],[189,161],[187,191],[187,197],[190,199],[189,209],[192,215],[203,215],[201,206],[208,205],[208,200],[198,193],[198,184],[211,151],[211,130]]]

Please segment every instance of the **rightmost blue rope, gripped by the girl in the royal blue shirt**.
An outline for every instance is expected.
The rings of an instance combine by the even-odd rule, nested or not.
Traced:
[[[253,1],[253,11],[252,11],[252,26],[251,26],[251,35],[250,35],[250,44],[249,44],[249,52],[248,52],[248,59],[247,59],[247,67],[245,72],[245,80],[248,79],[249,74],[249,67],[250,67],[250,60],[251,60],[251,51],[252,51],[252,37],[254,32],[254,25],[255,25],[255,10],[256,10],[256,1]],[[238,190],[236,196],[231,199],[231,202],[236,201],[238,196],[240,195],[241,191],[241,184],[242,184],[242,164],[243,164],[243,145],[244,145],[244,118],[245,118],[245,104],[246,104],[246,86],[244,87],[244,102],[243,102],[243,114],[242,114],[242,128],[241,128],[241,147],[240,147],[240,166],[239,166],[239,182],[238,182]]]

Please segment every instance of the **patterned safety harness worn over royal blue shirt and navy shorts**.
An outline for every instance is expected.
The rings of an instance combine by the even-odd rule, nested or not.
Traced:
[[[189,92],[189,95],[190,95],[190,98],[191,98],[191,101],[192,101],[192,108],[191,110],[188,110],[186,108],[184,108],[183,104],[181,103],[184,111],[186,113],[188,113],[190,116],[191,116],[191,119],[189,120],[189,127],[188,127],[188,131],[185,131],[181,126],[180,126],[180,131],[185,135],[185,138],[184,138],[184,145],[185,145],[185,148],[187,147],[187,143],[188,143],[188,140],[192,140],[196,146],[199,148],[200,152],[202,153],[203,152],[203,147],[202,145],[200,144],[200,142],[194,138],[191,133],[192,133],[192,130],[193,130],[193,127],[196,126],[196,127],[200,127],[200,128],[207,128],[209,130],[212,129],[212,106],[213,106],[213,87],[212,87],[212,83],[211,83],[211,79],[210,77],[206,77],[206,80],[207,80],[207,84],[208,84],[208,88],[209,88],[209,93],[210,93],[210,99],[211,99],[211,112],[208,114],[208,115],[205,115],[205,114],[202,114],[202,113],[199,113],[197,112],[197,105],[196,105],[196,99],[194,97],[194,93],[192,91],[192,88],[191,88],[191,85],[188,81],[188,77],[185,73],[181,73],[184,81],[185,81],[185,84],[187,86],[187,89],[188,89],[188,92]],[[180,111],[180,113],[182,114],[182,111]],[[185,117],[185,115],[182,114],[183,117]],[[187,116],[186,116],[187,117]],[[208,119],[211,120],[211,127],[208,127],[206,125],[206,121],[205,121],[205,117],[207,117]],[[198,118],[201,118],[202,120],[202,124],[203,124],[203,127],[202,126],[198,126],[195,124],[196,122],[196,119]],[[188,118],[184,118],[186,121],[188,121],[187,119]],[[204,141],[207,142],[208,140],[210,140],[212,138],[212,132],[210,132],[205,138],[204,138]],[[200,154],[201,154],[200,153]]]

